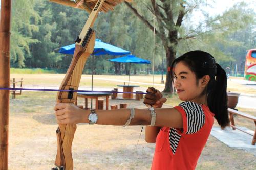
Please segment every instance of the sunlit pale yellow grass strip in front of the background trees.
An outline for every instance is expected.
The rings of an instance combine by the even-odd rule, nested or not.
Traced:
[[[11,79],[20,80],[23,78],[24,85],[40,85],[40,86],[59,86],[65,77],[65,74],[11,74]],[[233,77],[232,77],[233,79]],[[241,79],[241,78],[238,78]],[[117,85],[127,84],[129,76],[127,75],[94,75],[93,86],[94,87],[105,87],[105,88],[116,88]],[[165,75],[163,77],[165,80]],[[80,81],[80,87],[91,87],[92,75],[82,75]],[[147,88],[153,85],[153,75],[131,75],[130,84],[140,85],[142,88]],[[164,84],[161,84],[161,75],[154,75],[154,87],[163,90]],[[256,90],[240,85],[236,82],[228,79],[227,90],[245,94],[255,94]]]

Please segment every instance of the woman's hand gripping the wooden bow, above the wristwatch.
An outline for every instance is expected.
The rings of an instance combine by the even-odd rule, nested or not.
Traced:
[[[57,103],[54,107],[58,124],[77,124],[86,122],[83,109],[70,103]]]

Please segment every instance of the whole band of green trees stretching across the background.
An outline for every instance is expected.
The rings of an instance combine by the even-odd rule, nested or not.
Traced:
[[[193,11],[204,9],[206,1],[156,2],[161,17],[154,16],[154,6],[149,0],[135,0],[132,6],[152,26],[155,18],[155,28],[163,33],[162,36],[154,35],[123,3],[114,11],[100,13],[95,22],[96,38],[152,62],[152,65],[132,64],[132,74],[152,70],[153,63],[154,72],[161,72],[162,62],[166,72],[166,57],[169,55],[166,47],[172,47],[177,56],[189,50],[208,51],[223,67],[233,68],[238,63],[239,69],[243,67],[246,50],[255,48],[256,15],[253,10],[248,10],[245,3],[237,4],[217,16],[209,17],[207,11],[203,11],[203,19],[193,25]],[[13,0],[12,3],[11,66],[65,72],[72,55],[59,54],[55,49],[74,43],[88,13],[47,0]],[[180,11],[185,11],[185,15],[181,27],[177,27],[175,24]],[[172,19],[169,19],[170,14]],[[178,31],[176,40],[170,34],[172,30]],[[95,56],[95,73],[114,72],[114,63],[108,59],[115,57],[120,56]],[[89,57],[84,72],[89,73],[91,69],[92,57]],[[121,69],[127,73],[125,64],[121,64]]]

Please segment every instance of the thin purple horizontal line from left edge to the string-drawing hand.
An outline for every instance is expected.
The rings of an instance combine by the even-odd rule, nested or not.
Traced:
[[[25,91],[72,91],[72,92],[97,92],[97,93],[130,93],[130,94],[148,94],[143,92],[118,92],[118,91],[89,91],[89,90],[55,90],[55,89],[33,89],[33,88],[3,88],[0,90],[25,90]]]

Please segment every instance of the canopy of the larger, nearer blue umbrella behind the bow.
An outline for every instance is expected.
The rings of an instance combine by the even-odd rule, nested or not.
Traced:
[[[75,44],[63,46],[59,49],[59,53],[63,54],[74,54],[75,51]],[[92,55],[126,55],[130,54],[131,52],[123,50],[122,48],[116,47],[114,45],[107,44],[105,42],[102,42],[99,39],[96,39],[94,51]]]

